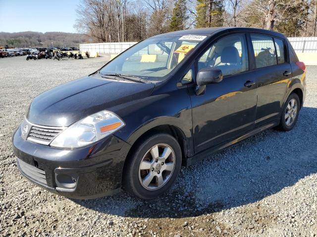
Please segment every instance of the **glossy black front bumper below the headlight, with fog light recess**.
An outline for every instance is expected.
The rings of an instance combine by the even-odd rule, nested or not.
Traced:
[[[91,146],[66,150],[26,141],[18,128],[12,135],[13,152],[21,174],[33,183],[77,199],[120,191],[128,143],[111,135]]]

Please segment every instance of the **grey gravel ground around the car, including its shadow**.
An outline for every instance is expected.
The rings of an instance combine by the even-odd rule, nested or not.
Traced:
[[[0,59],[0,236],[317,237],[317,67],[296,127],[273,129],[182,168],[165,197],[72,200],[23,178],[12,130],[31,100],[104,59]]]

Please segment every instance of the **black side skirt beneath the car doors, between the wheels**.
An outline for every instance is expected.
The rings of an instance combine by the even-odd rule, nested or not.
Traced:
[[[193,157],[189,157],[186,159],[186,162],[185,162],[185,166],[188,167],[188,166],[191,166],[193,164],[195,164],[196,162],[199,162],[205,158],[208,158],[209,156],[213,155],[213,154],[216,154],[220,151],[222,151],[223,149],[237,143],[237,142],[240,142],[248,137],[251,137],[259,132],[263,132],[269,128],[272,128],[272,127],[275,127],[279,124],[279,121],[278,120],[275,120],[275,121],[272,121],[272,122],[269,122],[269,123],[266,123],[264,125],[262,125],[261,127],[257,127],[255,128],[254,130],[251,130],[245,134],[243,134],[242,136],[240,137],[237,137],[231,141],[227,141],[227,142],[224,142],[224,143],[221,143],[220,145],[218,146],[215,146],[215,147],[211,147],[205,151],[202,151],[198,154],[196,154],[195,156]]]

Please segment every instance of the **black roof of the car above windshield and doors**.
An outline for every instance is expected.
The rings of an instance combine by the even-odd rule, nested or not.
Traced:
[[[161,34],[158,36],[182,36],[182,35],[212,35],[215,32],[256,32],[256,33],[264,33],[280,38],[284,38],[284,35],[275,31],[269,31],[259,28],[250,28],[250,27],[211,27],[211,28],[198,28],[198,29],[189,29],[183,31],[174,31],[168,32],[165,34]],[[157,36],[154,36],[157,37]]]

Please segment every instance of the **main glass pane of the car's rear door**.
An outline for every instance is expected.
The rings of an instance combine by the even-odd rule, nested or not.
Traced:
[[[273,38],[261,35],[251,35],[257,68],[277,64]]]

